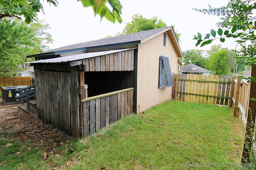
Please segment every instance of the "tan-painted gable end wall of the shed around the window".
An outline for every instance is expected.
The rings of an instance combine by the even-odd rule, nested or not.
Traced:
[[[158,35],[138,46],[138,105],[142,110],[167,100],[172,95],[172,87],[158,89],[159,57],[169,57],[172,72],[177,72],[178,55],[167,36],[166,47],[163,46],[163,34]]]

